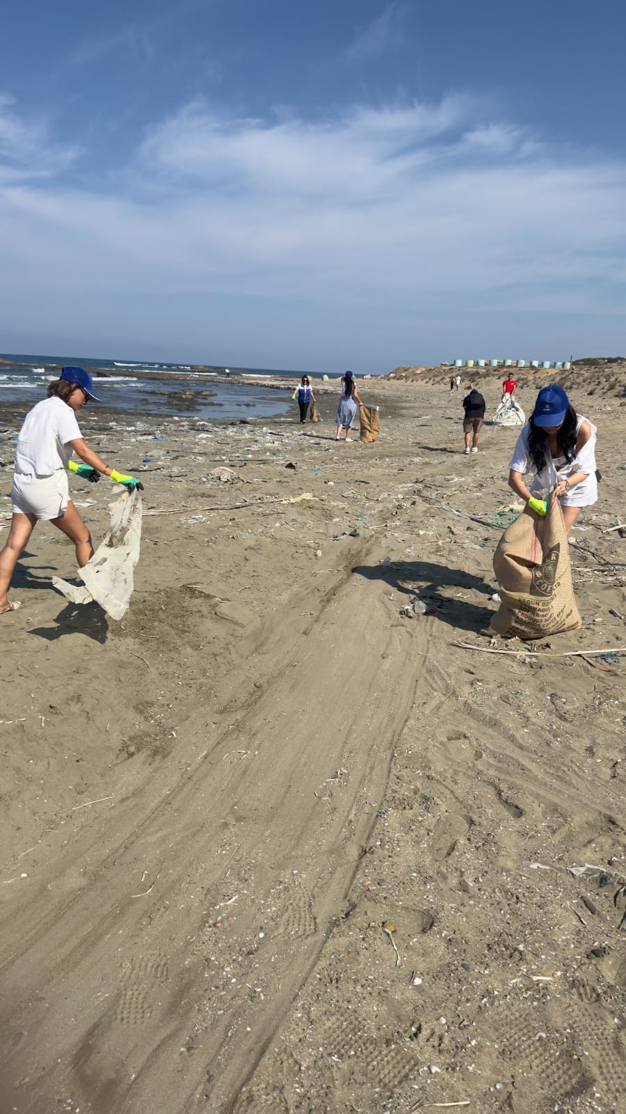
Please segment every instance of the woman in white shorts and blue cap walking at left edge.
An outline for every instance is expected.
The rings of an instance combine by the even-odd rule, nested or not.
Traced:
[[[76,546],[80,567],[94,553],[91,536],[69,498],[68,470],[92,483],[100,472],[133,490],[143,488],[134,476],[124,476],[94,452],[82,439],[76,413],[94,393],[91,375],[84,368],[62,368],[61,378],[48,384],[48,398],[26,416],[18,436],[16,473],[11,489],[11,527],[0,553],[0,615],[21,606],[7,597],[18,558],[38,520],[51,521]],[[72,451],[82,463],[71,460]]]

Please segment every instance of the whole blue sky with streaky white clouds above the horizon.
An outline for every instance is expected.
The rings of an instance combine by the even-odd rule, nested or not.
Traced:
[[[625,41],[623,0],[16,4],[0,350],[623,353]]]

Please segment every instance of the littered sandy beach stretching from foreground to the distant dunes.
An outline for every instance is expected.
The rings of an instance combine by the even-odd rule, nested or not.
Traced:
[[[477,634],[499,528],[453,511],[510,504],[517,431],[464,457],[462,395],[361,393],[372,446],[322,389],[304,436],[84,422],[175,514],[121,623],[51,589],[46,526],[0,620],[2,1111],[626,1110],[626,658],[554,656],[626,645],[620,399],[573,399],[584,628],[513,656]]]

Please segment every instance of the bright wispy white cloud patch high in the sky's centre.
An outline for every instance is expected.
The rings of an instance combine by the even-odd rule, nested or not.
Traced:
[[[462,98],[437,106],[353,109],[339,119],[267,124],[228,119],[203,104],[155,128],[140,157],[168,183],[206,183],[275,196],[371,198],[429,157],[426,143],[467,114]]]

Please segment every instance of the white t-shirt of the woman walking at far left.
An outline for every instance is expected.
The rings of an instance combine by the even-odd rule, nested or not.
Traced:
[[[56,394],[38,402],[19,432],[16,476],[51,476],[67,468],[72,452],[68,442],[78,437],[82,433],[67,402]]]

